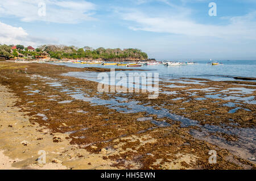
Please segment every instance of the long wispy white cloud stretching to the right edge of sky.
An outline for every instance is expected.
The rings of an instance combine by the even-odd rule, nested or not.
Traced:
[[[229,18],[229,24],[213,25],[196,23],[185,14],[154,16],[142,12],[122,14],[124,20],[135,23],[134,31],[164,32],[187,36],[210,36],[224,39],[256,40],[256,11],[244,16]]]

